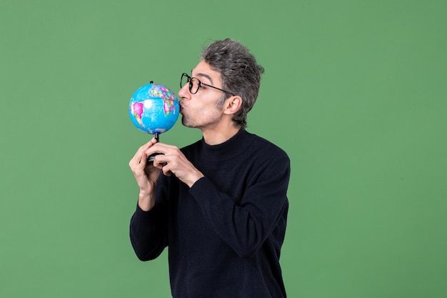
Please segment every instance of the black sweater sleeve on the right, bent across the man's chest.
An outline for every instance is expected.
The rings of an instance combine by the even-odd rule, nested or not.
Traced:
[[[251,166],[252,179],[233,182],[235,189],[238,184],[246,187],[241,198],[221,192],[206,177],[190,190],[216,234],[240,257],[251,257],[273,229],[285,231],[286,227],[288,158],[272,159],[268,164],[255,162]],[[231,174],[237,177],[236,172]]]

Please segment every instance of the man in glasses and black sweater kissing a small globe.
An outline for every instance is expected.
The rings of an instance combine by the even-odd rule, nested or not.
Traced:
[[[262,73],[237,41],[210,44],[179,91],[182,123],[203,139],[182,149],[151,139],[129,162],[139,185],[131,243],[143,261],[169,247],[174,298],[286,297],[290,161],[245,129]]]

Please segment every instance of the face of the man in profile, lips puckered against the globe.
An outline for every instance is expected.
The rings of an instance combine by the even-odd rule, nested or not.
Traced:
[[[191,76],[204,84],[222,88],[221,74],[211,69],[205,61],[197,64]],[[180,89],[179,96],[180,113],[183,115],[181,122],[184,126],[205,129],[220,123],[224,112],[216,104],[225,96],[223,91],[202,85],[196,94],[191,94],[189,84],[185,84]]]

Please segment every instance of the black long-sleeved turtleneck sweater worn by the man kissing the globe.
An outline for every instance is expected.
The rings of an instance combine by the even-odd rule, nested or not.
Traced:
[[[205,177],[191,189],[161,175],[156,205],[138,206],[131,243],[146,261],[169,247],[175,298],[286,297],[279,257],[286,232],[290,161],[245,130],[223,144],[181,149]]]

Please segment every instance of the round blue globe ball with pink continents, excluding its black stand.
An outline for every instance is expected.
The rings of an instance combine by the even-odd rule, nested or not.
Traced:
[[[132,123],[148,134],[161,134],[171,129],[179,113],[179,100],[174,92],[159,84],[141,86],[129,102]]]

